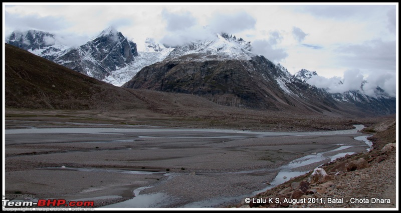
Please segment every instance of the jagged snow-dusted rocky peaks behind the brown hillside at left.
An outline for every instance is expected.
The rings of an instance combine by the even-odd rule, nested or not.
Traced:
[[[6,43],[99,80],[132,64],[138,55],[136,43],[113,27],[79,47],[68,47],[60,43],[56,35],[39,30],[15,31]]]

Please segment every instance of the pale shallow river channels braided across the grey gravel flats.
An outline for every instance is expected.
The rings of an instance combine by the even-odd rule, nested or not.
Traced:
[[[334,135],[334,134],[354,134],[357,133],[357,130],[363,128],[363,125],[354,125],[355,129],[349,130],[338,130],[338,131],[318,131],[318,132],[264,132],[264,131],[241,131],[241,130],[230,130],[230,129],[184,129],[184,128],[175,128],[175,129],[163,129],[163,128],[36,128],[36,129],[6,129],[7,134],[33,134],[33,133],[86,133],[86,134],[124,134],[128,132],[135,132],[137,137],[170,137],[170,138],[249,138],[249,137],[266,137],[266,136],[304,136],[304,135]],[[165,132],[165,134],[161,134]],[[168,133],[170,132],[170,133]],[[213,134],[211,134],[213,133]],[[366,139],[367,136],[358,136],[354,137],[355,140],[363,140]],[[109,141],[101,141],[101,142],[130,142],[134,141],[133,139],[110,139]],[[93,141],[91,141],[93,142]],[[365,141],[366,142],[366,141]],[[366,142],[366,144],[368,144]],[[353,152],[341,152],[340,150],[346,150],[352,146],[350,145],[341,145],[337,148],[319,152],[316,154],[309,154],[298,159],[292,160],[286,165],[283,165],[279,168],[263,168],[257,170],[250,171],[238,171],[238,172],[226,172],[230,173],[257,173],[257,172],[277,172],[277,176],[272,180],[271,185],[268,187],[252,192],[250,195],[255,195],[257,192],[265,191],[268,188],[272,188],[278,184],[281,184],[291,177],[299,176],[301,174],[307,173],[308,171],[296,171],[296,168],[301,166],[306,166],[311,163],[317,163],[322,161],[331,161],[335,158],[344,156],[347,153]],[[369,145],[369,144],[368,144]],[[371,146],[371,145],[369,145]],[[323,162],[322,162],[323,163]],[[52,168],[52,169],[61,169],[61,168]],[[108,171],[108,172],[123,172],[123,173],[131,173],[131,174],[153,174],[153,173],[163,173],[163,172],[152,172],[152,171],[133,171],[133,170],[123,170],[123,169],[99,169],[99,168],[66,168],[66,169],[75,169],[80,171]],[[164,173],[163,175],[168,175],[168,178],[174,178],[175,174],[172,173]],[[287,178],[284,178],[286,176]],[[148,188],[149,186],[140,187],[133,191],[135,197],[132,199],[106,205],[103,207],[112,207],[112,208],[122,208],[122,207],[164,207],[168,205],[173,205],[176,202],[174,197],[168,196],[163,192],[149,193],[149,194],[140,194],[141,190]],[[262,186],[263,187],[263,186]],[[249,196],[250,196],[249,195]],[[235,196],[235,197],[220,197],[213,198],[210,200],[200,200],[196,202],[187,203],[181,207],[213,207],[224,202],[235,201],[241,198],[244,198],[247,195]]]

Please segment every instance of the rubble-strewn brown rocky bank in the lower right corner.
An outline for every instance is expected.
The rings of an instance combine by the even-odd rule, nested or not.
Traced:
[[[375,133],[369,138],[372,150],[323,164],[324,170],[292,178],[236,207],[395,208],[395,126],[393,118],[364,128]]]

